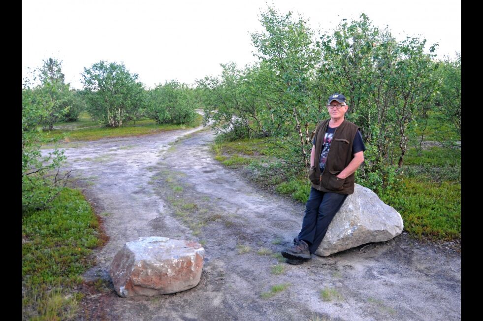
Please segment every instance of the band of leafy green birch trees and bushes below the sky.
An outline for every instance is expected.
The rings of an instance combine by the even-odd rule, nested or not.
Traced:
[[[455,60],[436,60],[437,44],[427,54],[425,39],[396,41],[365,14],[320,35],[307,20],[271,7],[261,12],[260,23],[264,31],[251,34],[258,62],[243,68],[221,64],[219,76],[199,79],[195,88],[171,80],[146,89],[123,63],[99,61],[84,68],[84,88],[74,90],[65,83],[62,62],[43,61],[34,77],[40,84],[24,79],[22,89],[23,188],[25,183],[25,190],[37,189],[33,178],[40,182],[64,160],[59,152],[40,159],[39,126],[52,130],[59,121],[76,121],[83,110],[117,128],[143,117],[190,123],[202,105],[204,123],[210,120],[219,134],[282,140],[287,165],[301,169],[309,163],[316,125],[329,117],[327,97],[342,93],[350,106],[346,117],[360,126],[367,147],[357,179],[375,191],[391,188],[410,143],[419,141],[420,152],[429,115],[460,137],[459,53]],[[26,204],[48,203],[48,197],[26,195]]]

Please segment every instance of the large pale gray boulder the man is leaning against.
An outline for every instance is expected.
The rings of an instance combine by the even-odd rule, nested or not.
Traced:
[[[330,222],[315,254],[326,257],[362,244],[388,241],[401,234],[403,227],[401,215],[393,207],[355,184],[354,193]]]

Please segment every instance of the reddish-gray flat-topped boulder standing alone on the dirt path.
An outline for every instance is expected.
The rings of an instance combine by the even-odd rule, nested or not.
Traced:
[[[152,296],[195,287],[205,250],[196,242],[140,237],[116,254],[110,275],[119,296]]]

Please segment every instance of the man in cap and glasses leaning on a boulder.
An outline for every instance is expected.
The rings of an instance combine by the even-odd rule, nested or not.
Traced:
[[[346,97],[333,94],[327,100],[330,119],[316,128],[310,154],[311,190],[302,229],[294,245],[282,251],[287,263],[301,264],[312,258],[327,228],[347,195],[354,193],[354,172],[364,161],[365,146],[357,126],[346,121]]]

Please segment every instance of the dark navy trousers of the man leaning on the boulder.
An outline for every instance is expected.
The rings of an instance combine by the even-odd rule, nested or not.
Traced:
[[[299,240],[309,244],[310,254],[315,253],[327,232],[330,222],[347,195],[321,192],[313,187],[310,190],[309,200],[305,205],[305,215],[302,230],[298,234]]]

